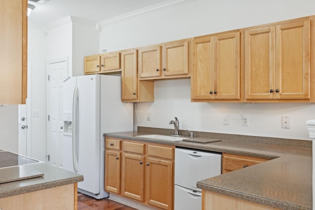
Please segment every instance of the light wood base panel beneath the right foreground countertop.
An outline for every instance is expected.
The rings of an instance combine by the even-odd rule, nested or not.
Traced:
[[[202,210],[279,210],[239,198],[202,190]]]

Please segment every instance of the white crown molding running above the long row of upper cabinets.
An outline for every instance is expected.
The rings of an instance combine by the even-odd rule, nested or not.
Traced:
[[[138,17],[145,16],[145,15],[149,15],[149,14],[152,14],[152,13],[155,13],[158,11],[162,11],[165,9],[169,9],[172,7],[180,6],[180,5],[190,3],[193,1],[197,1],[197,0],[168,0],[168,1],[165,1],[162,3],[158,3],[158,4],[155,4],[152,6],[145,7],[143,9],[138,9],[138,10],[135,10],[133,12],[128,12],[128,13],[123,14],[123,15],[119,15],[119,16],[116,16],[113,18],[109,18],[109,19],[100,21],[99,24],[101,26],[116,24],[119,22],[131,20],[131,19],[138,18]]]

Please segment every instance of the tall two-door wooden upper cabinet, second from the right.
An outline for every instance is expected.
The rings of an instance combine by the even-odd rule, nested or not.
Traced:
[[[191,101],[240,100],[240,32],[192,40]]]

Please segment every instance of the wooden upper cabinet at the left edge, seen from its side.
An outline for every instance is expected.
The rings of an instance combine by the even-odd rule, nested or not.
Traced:
[[[27,0],[0,1],[0,104],[27,98]]]

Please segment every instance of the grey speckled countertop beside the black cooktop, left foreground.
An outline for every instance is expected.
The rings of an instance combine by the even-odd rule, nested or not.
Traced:
[[[44,174],[42,177],[27,180],[17,180],[0,184],[0,198],[48,189],[52,187],[83,181],[83,176],[63,170],[46,163],[32,163],[0,169],[1,173],[13,173],[15,171],[36,171]],[[11,171],[11,172],[10,172]]]

